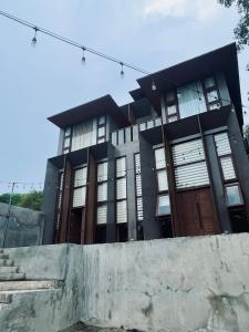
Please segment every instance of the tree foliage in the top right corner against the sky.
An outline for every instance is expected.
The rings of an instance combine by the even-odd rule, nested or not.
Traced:
[[[240,20],[235,28],[235,37],[238,41],[238,48],[241,50],[249,45],[249,1],[248,0],[218,0],[225,7],[236,4],[240,14]]]

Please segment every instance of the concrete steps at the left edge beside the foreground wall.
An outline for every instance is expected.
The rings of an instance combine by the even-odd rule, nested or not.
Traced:
[[[25,273],[14,261],[0,249],[0,310],[12,302],[12,295],[18,293],[37,292],[60,289],[59,280],[25,280]]]

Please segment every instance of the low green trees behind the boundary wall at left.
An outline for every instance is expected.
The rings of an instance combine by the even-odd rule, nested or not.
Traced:
[[[1,203],[9,203],[10,194],[0,195]],[[40,211],[42,203],[42,191],[31,191],[28,194],[14,194],[12,196],[12,205]]]

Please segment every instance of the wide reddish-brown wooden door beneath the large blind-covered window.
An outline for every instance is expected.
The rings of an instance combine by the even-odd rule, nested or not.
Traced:
[[[201,236],[219,232],[210,188],[178,193],[176,205],[177,236]]]

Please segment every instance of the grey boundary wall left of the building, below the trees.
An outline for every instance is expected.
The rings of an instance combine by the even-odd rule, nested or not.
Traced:
[[[43,227],[42,212],[0,203],[0,248],[41,245]]]

